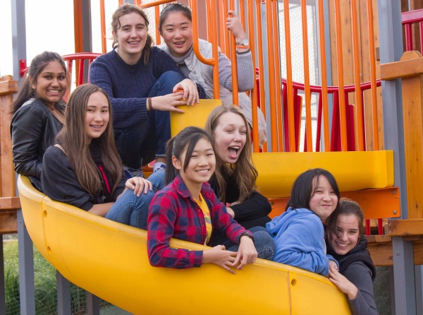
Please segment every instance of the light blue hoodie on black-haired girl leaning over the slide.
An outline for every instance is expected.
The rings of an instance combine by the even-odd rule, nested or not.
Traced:
[[[273,261],[329,275],[324,227],[320,218],[309,209],[288,208],[285,213],[266,223],[266,229],[275,241]]]

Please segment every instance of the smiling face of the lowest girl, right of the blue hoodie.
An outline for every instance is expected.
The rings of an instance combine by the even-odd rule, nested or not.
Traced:
[[[360,239],[360,227],[355,215],[341,214],[336,218],[335,231],[329,232],[329,244],[339,255],[347,254]]]

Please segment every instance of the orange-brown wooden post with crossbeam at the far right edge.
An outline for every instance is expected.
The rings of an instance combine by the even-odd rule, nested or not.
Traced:
[[[423,218],[423,57],[404,52],[400,61],[381,66],[382,80],[402,78],[407,219]],[[398,104],[400,106],[400,104]]]

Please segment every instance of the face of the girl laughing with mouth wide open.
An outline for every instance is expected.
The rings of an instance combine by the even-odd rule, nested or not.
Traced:
[[[223,162],[234,164],[247,141],[247,126],[244,119],[233,112],[222,114],[213,135],[216,154]]]

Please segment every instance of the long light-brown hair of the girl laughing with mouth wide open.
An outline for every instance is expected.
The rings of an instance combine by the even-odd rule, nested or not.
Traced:
[[[220,117],[228,112],[237,114],[243,119],[245,127],[247,128],[247,140],[245,141],[245,146],[240,153],[240,157],[238,157],[238,160],[234,164],[224,163],[219,157],[219,154],[216,154],[216,168],[219,167],[221,175],[223,176],[220,180],[217,180],[219,185],[219,199],[221,201],[225,200],[226,181],[223,178],[225,177],[225,174],[228,174],[235,177],[235,182],[240,189],[239,201],[243,202],[250,196],[252,191],[255,190],[255,182],[258,176],[257,170],[252,162],[251,130],[247,119],[245,118],[243,112],[241,112],[235,105],[222,105],[213,109],[209,114],[205,130],[214,139],[214,131],[216,130],[216,126],[219,125]],[[214,145],[217,147],[216,141],[214,142]]]

